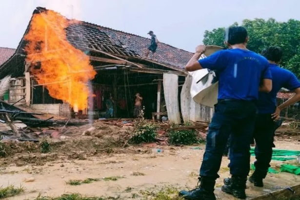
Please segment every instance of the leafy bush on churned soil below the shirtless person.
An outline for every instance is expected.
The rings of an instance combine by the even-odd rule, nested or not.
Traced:
[[[140,144],[142,142],[154,142],[157,136],[157,126],[149,123],[139,123],[135,129],[133,136],[129,139],[129,143]]]

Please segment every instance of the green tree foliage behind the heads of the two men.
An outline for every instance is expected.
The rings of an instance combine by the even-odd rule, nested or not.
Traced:
[[[233,25],[239,25],[235,22]],[[294,72],[300,78],[300,21],[288,20],[277,22],[255,19],[243,20],[242,24],[249,35],[248,49],[260,53],[265,47],[271,45],[280,46],[283,51],[281,66]],[[224,27],[206,30],[203,43],[205,45],[224,46]]]

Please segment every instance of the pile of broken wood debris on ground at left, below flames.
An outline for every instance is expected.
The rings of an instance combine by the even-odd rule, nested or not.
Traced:
[[[17,103],[17,102],[16,102]],[[37,142],[40,136],[58,137],[67,131],[66,126],[89,124],[87,120],[55,119],[40,117],[42,113],[30,112],[0,101],[0,133],[2,140]]]

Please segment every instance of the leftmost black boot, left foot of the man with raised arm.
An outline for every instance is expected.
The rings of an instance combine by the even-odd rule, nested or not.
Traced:
[[[207,178],[200,178],[200,186],[191,190],[181,190],[179,196],[185,200],[216,200],[214,187],[216,181]]]

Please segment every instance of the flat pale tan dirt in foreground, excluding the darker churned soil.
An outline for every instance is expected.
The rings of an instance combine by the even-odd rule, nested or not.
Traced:
[[[276,141],[278,149],[300,150],[299,144],[300,142]],[[204,146],[201,146],[201,150],[191,149],[193,147],[161,148],[164,149],[162,153],[152,154],[102,155],[89,157],[86,160],[58,158],[58,160],[47,162],[43,166],[17,167],[12,163],[11,166],[0,169],[0,185],[19,186],[21,184],[25,187],[25,193],[12,197],[11,200],[35,199],[40,193],[53,197],[67,192],[89,196],[142,199],[142,194],[151,194],[149,192],[158,191],[160,188],[191,189],[195,187]],[[230,199],[220,191],[223,178],[229,176],[226,167],[228,162],[228,159],[224,157],[220,169],[221,178],[217,180],[216,184],[216,194],[222,200]],[[280,163],[282,162],[272,161],[272,166],[280,165]],[[100,180],[78,186],[66,184],[70,179],[101,179],[104,177],[117,177],[117,180]],[[28,178],[35,180],[24,182]],[[274,190],[276,187],[278,189],[295,185],[300,182],[300,177],[288,173],[270,174],[265,182],[264,189],[258,190],[251,187],[251,190],[247,190],[248,196],[254,197]],[[154,189],[155,187],[156,189]]]

